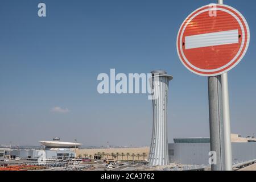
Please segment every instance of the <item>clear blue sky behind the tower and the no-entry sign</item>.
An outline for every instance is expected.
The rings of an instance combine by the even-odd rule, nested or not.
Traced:
[[[47,17],[37,15],[38,3]],[[174,76],[168,140],[208,137],[207,78],[189,72],[176,53],[180,24],[216,1],[87,0],[0,2],[0,143],[77,138],[84,145],[149,145],[147,94],[97,93],[97,75],[165,69]],[[250,26],[246,56],[229,72],[232,132],[256,133],[256,1],[225,0]],[[52,112],[53,107],[67,113]]]

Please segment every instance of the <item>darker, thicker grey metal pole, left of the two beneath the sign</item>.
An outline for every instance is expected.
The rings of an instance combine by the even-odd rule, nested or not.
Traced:
[[[225,169],[221,76],[208,77],[210,150],[214,152],[212,171]],[[215,159],[215,160],[214,160]]]

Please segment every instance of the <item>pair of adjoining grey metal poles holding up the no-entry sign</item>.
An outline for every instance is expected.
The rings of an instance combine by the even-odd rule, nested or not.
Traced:
[[[223,0],[218,0],[223,4]],[[232,171],[228,73],[208,77],[210,150],[216,152],[213,171]]]

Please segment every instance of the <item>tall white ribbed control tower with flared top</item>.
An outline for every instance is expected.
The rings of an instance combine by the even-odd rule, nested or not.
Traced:
[[[151,72],[151,89],[154,92],[153,127],[148,161],[150,166],[164,166],[169,163],[168,136],[167,136],[167,101],[168,85],[172,80],[166,71],[156,70]]]

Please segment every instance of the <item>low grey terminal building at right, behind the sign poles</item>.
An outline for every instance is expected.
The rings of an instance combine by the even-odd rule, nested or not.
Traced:
[[[233,163],[256,159],[256,139],[232,134]],[[176,138],[168,144],[170,163],[209,165],[210,138]]]

